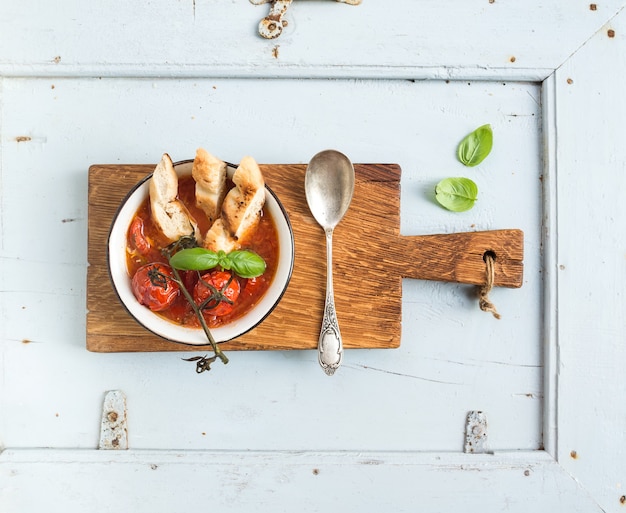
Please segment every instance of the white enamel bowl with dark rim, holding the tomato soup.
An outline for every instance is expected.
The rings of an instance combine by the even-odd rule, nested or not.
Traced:
[[[191,175],[193,161],[185,160],[174,164],[178,176]],[[228,168],[232,177],[234,168]],[[120,301],[135,320],[153,333],[173,342],[190,345],[207,345],[208,341],[201,328],[179,326],[163,319],[145,306],[139,304],[131,289],[131,279],[126,268],[126,234],[137,209],[148,196],[152,175],[139,182],[126,196],[113,219],[107,247],[107,262],[113,288]],[[216,342],[226,342],[237,338],[261,323],[276,307],[282,298],[293,270],[294,241],[289,217],[276,195],[265,189],[265,207],[276,224],[279,239],[279,260],[276,274],[269,289],[261,300],[244,316],[233,322],[211,329]]]

